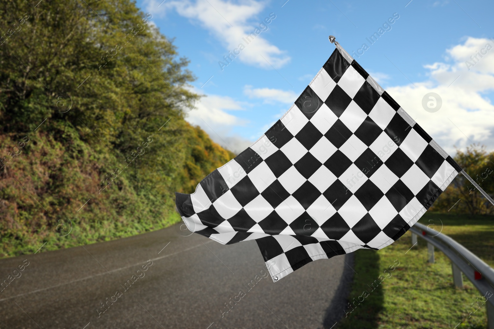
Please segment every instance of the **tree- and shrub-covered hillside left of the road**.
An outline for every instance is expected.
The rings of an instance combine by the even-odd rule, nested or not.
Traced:
[[[133,1],[0,3],[0,257],[180,220],[234,154],[188,124],[187,59]]]

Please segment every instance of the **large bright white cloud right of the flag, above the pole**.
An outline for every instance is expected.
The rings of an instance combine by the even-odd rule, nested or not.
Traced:
[[[487,44],[491,47],[489,51]],[[494,106],[486,97],[494,90],[493,48],[493,40],[468,37],[463,44],[446,50],[446,63],[425,66],[429,70],[428,80],[387,88],[412,118],[452,155],[454,146],[464,148],[471,142],[494,148],[491,136]],[[467,66],[465,61],[475,65]],[[422,107],[422,98],[429,92],[437,93],[442,99],[437,112]]]

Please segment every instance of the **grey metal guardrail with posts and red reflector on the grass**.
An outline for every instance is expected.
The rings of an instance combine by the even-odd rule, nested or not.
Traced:
[[[412,244],[417,243],[417,236],[427,241],[429,262],[434,263],[434,247],[442,251],[451,260],[453,283],[463,288],[463,273],[468,280],[486,298],[488,329],[494,329],[494,269],[468,249],[454,241],[449,236],[440,233],[426,225],[415,223],[410,228]],[[484,298],[482,301],[484,302]],[[478,304],[478,303],[477,303]],[[479,306],[479,305],[477,305]],[[470,305],[468,307],[471,307]]]

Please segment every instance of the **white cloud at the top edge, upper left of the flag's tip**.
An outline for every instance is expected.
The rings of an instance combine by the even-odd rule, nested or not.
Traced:
[[[146,2],[148,4],[147,10],[150,12],[165,13],[166,10],[175,9],[179,15],[187,17],[193,22],[199,22],[204,29],[208,30],[225,46],[225,54],[238,48],[239,44],[242,43],[245,49],[242,50],[238,58],[246,64],[271,69],[271,65],[280,68],[290,60],[285,51],[280,50],[262,37],[264,32],[261,32],[248,44],[242,39],[247,38],[256,28],[259,28],[261,23],[268,30],[270,24],[276,24],[275,14],[275,19],[270,24],[264,22],[264,16],[268,17],[269,14],[258,17],[261,10],[264,9],[264,2],[245,0],[235,4],[223,0],[197,0],[195,2],[180,0],[166,1],[161,5],[162,0],[147,0]],[[264,31],[267,31],[266,28]],[[223,58],[217,60],[223,61]]]

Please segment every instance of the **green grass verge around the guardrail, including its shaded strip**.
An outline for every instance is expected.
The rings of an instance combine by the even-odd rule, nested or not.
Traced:
[[[492,216],[426,213],[420,222],[435,224],[438,231],[442,227],[442,233],[450,235],[491,266],[494,264]],[[347,309],[351,313],[343,315],[335,329],[453,329],[458,323],[457,329],[487,327],[485,306],[469,315],[473,311],[471,303],[482,295],[465,277],[465,289],[454,287],[449,258],[436,249],[436,262],[428,263],[427,243],[420,238],[417,245],[411,247],[411,233],[407,232],[382,250],[355,253],[357,274],[349,296],[352,308]]]

